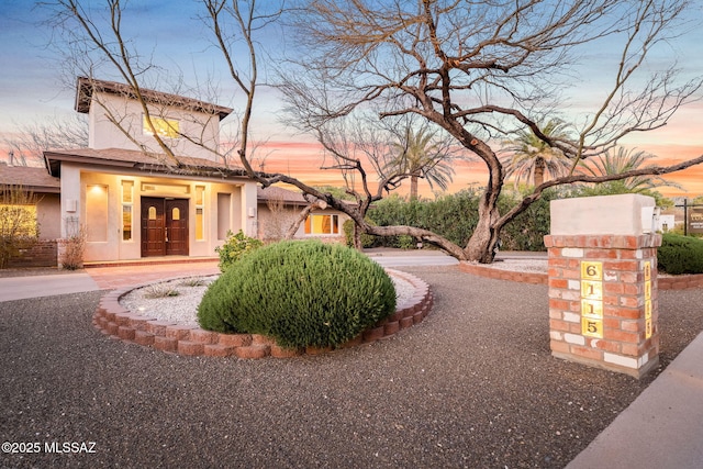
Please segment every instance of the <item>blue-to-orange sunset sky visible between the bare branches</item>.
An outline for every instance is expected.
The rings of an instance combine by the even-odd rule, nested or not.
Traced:
[[[160,59],[161,66],[180,70],[185,82],[193,88],[204,80],[214,79],[221,96],[225,97],[217,103],[235,109],[241,105],[234,88],[226,80],[219,51],[211,46],[207,32],[196,20],[198,2],[133,0],[127,4],[132,10],[123,21],[130,24],[130,31],[145,46],[144,49]],[[75,112],[75,90],[62,80],[59,64],[52,49],[47,48],[52,41],[52,30],[43,24],[47,15],[46,10],[34,8],[31,1],[0,0],[0,160],[7,158],[4,141],[12,138],[22,124]],[[703,74],[702,18],[703,5],[694,2],[691,11],[693,23],[689,25],[689,31],[676,43],[667,44],[662,52],[667,58],[677,58],[679,67],[688,70],[689,76]],[[593,67],[604,62],[603,57],[606,57],[605,52],[593,51],[590,55],[595,64]],[[593,76],[605,80],[603,77],[607,75]],[[591,86],[582,90],[584,103],[601,94],[599,81],[599,78],[593,78],[589,82]],[[320,147],[309,136],[297,135],[279,121],[281,101],[276,93],[270,89],[260,90],[253,138],[266,141],[265,146],[257,149],[258,156],[266,155],[266,170],[290,174],[313,185],[339,186],[342,182],[337,174],[319,169],[322,166]],[[701,92],[699,98],[703,98]],[[572,103],[572,108],[578,112],[580,104]],[[703,103],[688,104],[679,110],[666,127],[634,135],[623,144],[657,155],[658,164],[678,163],[702,155]],[[486,181],[486,170],[478,161],[460,161],[455,169],[451,192],[470,185],[481,186]],[[703,166],[668,178],[683,185],[688,192],[661,188],[660,191],[667,196],[703,194]],[[429,194],[426,183],[421,182],[420,187],[425,194]]]

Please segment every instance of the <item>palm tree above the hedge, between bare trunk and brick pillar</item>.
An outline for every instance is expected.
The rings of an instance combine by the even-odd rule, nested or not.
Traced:
[[[542,129],[542,133],[550,138],[566,138],[566,125],[553,119]],[[526,183],[537,187],[545,181],[545,175],[555,178],[566,176],[571,170],[571,161],[563,153],[549,146],[532,131],[521,131],[517,138],[505,142],[510,154],[501,158],[505,168],[505,178],[515,177],[515,186],[524,179]]]

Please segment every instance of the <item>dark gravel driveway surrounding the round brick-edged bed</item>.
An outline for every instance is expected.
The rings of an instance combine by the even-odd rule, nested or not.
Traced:
[[[423,323],[292,359],[110,339],[91,325],[100,292],[2,303],[0,440],[42,453],[0,467],[561,468],[654,378],[553,358],[544,286],[403,270],[435,292]],[[703,328],[702,302],[660,292],[662,366]],[[65,442],[94,453],[45,453]]]

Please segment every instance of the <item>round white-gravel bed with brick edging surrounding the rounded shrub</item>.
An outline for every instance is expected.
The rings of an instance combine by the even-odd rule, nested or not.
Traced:
[[[180,278],[163,282],[167,284],[163,288],[164,290],[175,288],[179,291],[175,297],[144,300],[144,293],[153,287],[152,284],[111,291],[100,300],[93,315],[93,325],[105,335],[181,355],[238,358],[284,358],[304,354],[317,355],[334,348],[347,348],[392,336],[425,319],[433,303],[433,295],[427,283],[410,273],[391,269],[386,271],[397,286],[402,286],[398,288],[403,293],[398,298],[394,313],[338,347],[290,348],[282,347],[275,339],[260,334],[226,334],[201,328],[197,324],[196,308],[199,298],[216,276],[198,280]],[[188,283],[203,284],[190,287]],[[141,294],[141,300],[136,299],[137,294]],[[175,311],[172,306],[159,308],[157,312],[145,305],[149,301],[168,304],[169,301],[182,302],[187,298],[191,299],[188,319],[183,319],[182,315],[178,320],[168,319],[169,312]]]

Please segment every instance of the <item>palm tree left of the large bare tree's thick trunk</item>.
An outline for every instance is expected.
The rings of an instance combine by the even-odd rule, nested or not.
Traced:
[[[397,143],[391,144],[391,158],[387,169],[410,175],[410,198],[417,199],[417,182],[425,179],[429,188],[446,190],[451,182],[454,168],[449,165],[450,152],[446,144],[435,138],[434,132],[421,127],[415,132],[410,125]]]

